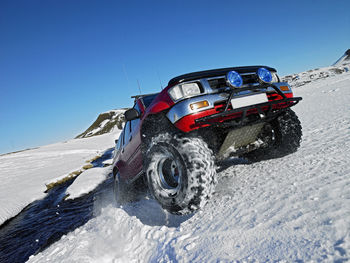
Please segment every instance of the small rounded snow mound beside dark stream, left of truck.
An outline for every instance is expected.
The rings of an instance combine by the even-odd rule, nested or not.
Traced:
[[[111,167],[95,167],[81,173],[67,188],[67,199],[75,199],[94,190],[112,172]]]

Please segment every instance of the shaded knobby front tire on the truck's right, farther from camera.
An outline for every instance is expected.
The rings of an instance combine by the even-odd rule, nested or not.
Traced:
[[[261,140],[265,146],[248,152],[243,157],[251,161],[279,158],[298,150],[302,137],[302,127],[298,116],[291,109],[265,126]]]

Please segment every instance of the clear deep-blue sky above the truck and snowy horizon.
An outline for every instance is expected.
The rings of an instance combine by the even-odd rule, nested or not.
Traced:
[[[67,140],[192,71],[329,66],[350,1],[0,0],[0,153]],[[160,84],[161,83],[161,84]]]

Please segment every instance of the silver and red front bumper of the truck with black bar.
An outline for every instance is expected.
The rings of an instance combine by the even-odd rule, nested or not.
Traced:
[[[281,86],[287,83],[274,83],[269,87],[259,87],[252,90],[234,89],[229,93],[207,94],[181,101],[174,105],[167,113],[169,120],[180,130],[190,132],[195,129],[219,126],[219,127],[241,127],[258,122],[269,121],[280,114],[281,109],[289,108],[297,104],[301,97],[293,97],[289,87],[281,91]],[[231,99],[235,97],[250,96],[265,92],[268,102],[232,109]],[[190,105],[199,101],[207,100],[208,106],[200,111],[191,110]],[[259,118],[249,119],[248,116],[255,114]]]

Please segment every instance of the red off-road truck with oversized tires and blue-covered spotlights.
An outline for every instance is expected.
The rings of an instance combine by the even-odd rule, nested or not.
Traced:
[[[141,178],[164,209],[191,213],[214,191],[216,161],[277,158],[300,145],[301,124],[290,108],[301,98],[270,67],[189,73],[133,98],[113,161],[118,202]]]

